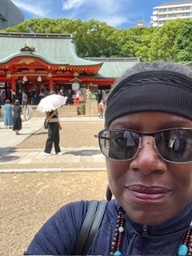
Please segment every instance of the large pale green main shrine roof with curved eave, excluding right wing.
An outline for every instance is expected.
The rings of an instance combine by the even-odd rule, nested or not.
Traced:
[[[35,51],[21,52],[25,46]],[[101,62],[78,58],[76,45],[70,34],[18,34],[0,33],[0,63],[20,55],[42,58],[50,64],[70,66],[94,66]]]

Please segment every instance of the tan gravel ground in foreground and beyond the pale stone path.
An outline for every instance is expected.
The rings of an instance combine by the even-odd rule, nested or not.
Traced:
[[[62,122],[62,148],[98,147],[103,122]],[[42,128],[18,149],[43,149]],[[0,255],[20,256],[34,234],[61,206],[82,199],[105,199],[105,171],[0,174]]]

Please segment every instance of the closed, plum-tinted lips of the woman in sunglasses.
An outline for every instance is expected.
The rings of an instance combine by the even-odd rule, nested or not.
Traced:
[[[167,194],[170,193],[170,190],[158,186],[134,185],[128,186],[128,189],[130,190],[130,193],[134,196],[134,198],[146,202],[160,201],[163,198],[166,198]]]

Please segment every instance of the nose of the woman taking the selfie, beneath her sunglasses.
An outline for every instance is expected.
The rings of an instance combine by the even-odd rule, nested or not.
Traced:
[[[130,169],[139,170],[146,175],[154,172],[160,174],[166,171],[166,162],[158,155],[153,137],[142,137],[138,154],[130,162]]]

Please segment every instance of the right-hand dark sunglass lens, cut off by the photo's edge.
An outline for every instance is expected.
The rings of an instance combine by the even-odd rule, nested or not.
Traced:
[[[154,138],[162,158],[170,162],[192,161],[192,130],[164,130],[155,134]]]

